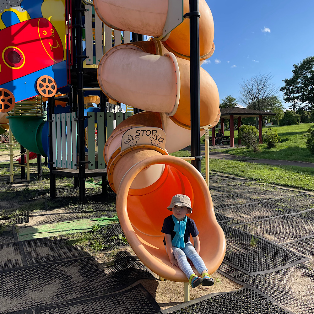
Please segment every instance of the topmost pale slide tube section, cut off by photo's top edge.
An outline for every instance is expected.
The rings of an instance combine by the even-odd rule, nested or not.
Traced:
[[[167,18],[168,0],[94,0],[94,7],[103,23],[115,30],[159,37]]]

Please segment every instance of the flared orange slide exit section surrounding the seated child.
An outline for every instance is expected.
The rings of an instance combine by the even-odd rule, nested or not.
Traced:
[[[153,185],[130,189],[133,180],[148,166],[162,164],[165,170]],[[169,216],[167,206],[175,194],[191,198],[193,214],[201,242],[200,256],[213,273],[225,257],[225,235],[216,221],[208,187],[202,175],[189,163],[173,156],[155,154],[131,167],[117,191],[116,208],[122,230],[139,259],[165,279],[188,282],[184,273],[171,266],[160,232]],[[196,269],[194,271],[197,273]]]

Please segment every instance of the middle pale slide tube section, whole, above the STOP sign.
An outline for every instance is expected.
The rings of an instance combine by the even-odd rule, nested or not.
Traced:
[[[100,60],[97,77],[104,94],[117,102],[169,116],[176,113],[180,72],[170,52],[158,56],[132,44],[113,47]]]

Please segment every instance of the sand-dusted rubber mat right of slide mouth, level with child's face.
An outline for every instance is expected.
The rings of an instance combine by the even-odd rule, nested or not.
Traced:
[[[247,205],[228,208],[219,208],[215,211],[221,215],[226,216],[227,219],[236,219],[238,222],[235,223],[255,221],[268,217],[275,217],[292,213],[288,210],[278,209],[260,203],[251,203]]]

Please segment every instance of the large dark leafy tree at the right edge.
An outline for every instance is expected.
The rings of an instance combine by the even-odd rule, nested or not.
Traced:
[[[292,103],[289,107],[294,111],[303,104],[307,109],[314,109],[314,56],[306,57],[293,67],[292,77],[285,78],[284,86],[280,88],[284,101]]]

